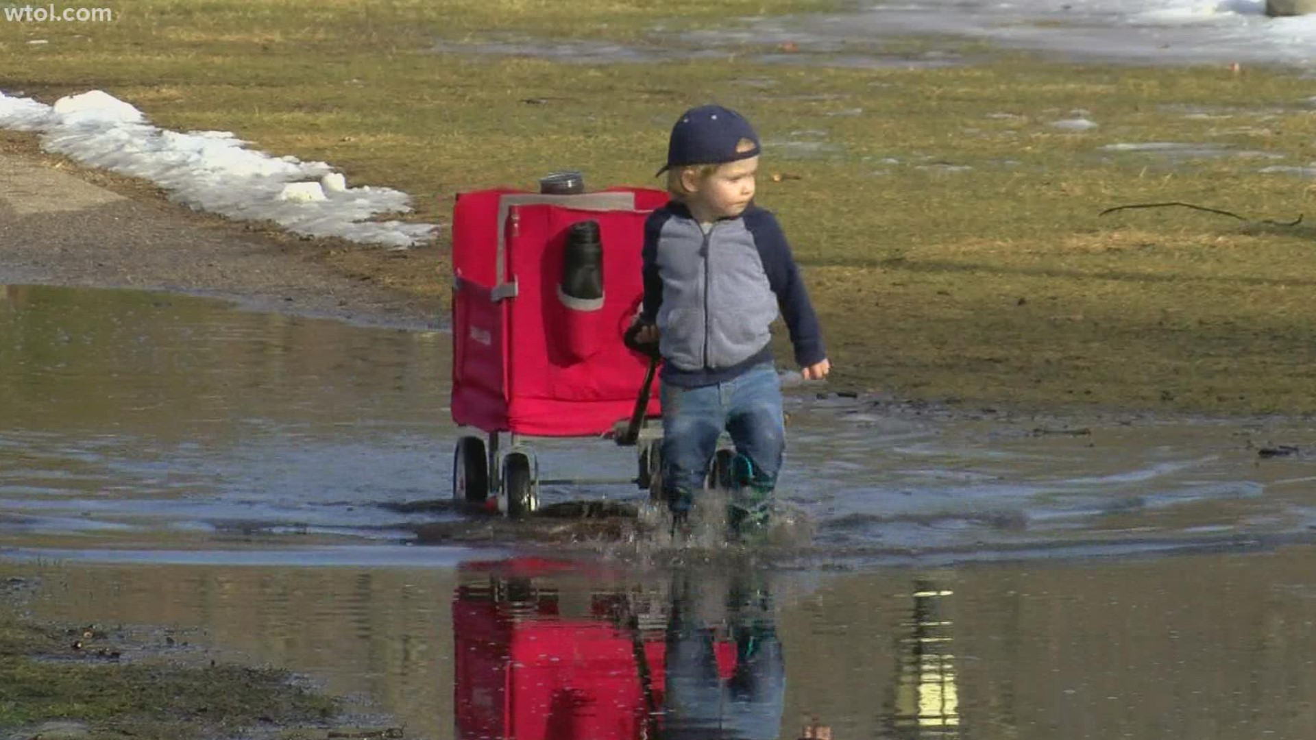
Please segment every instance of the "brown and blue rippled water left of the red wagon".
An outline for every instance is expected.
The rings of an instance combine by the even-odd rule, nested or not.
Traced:
[[[8,544],[368,539],[446,486],[447,334],[11,286],[0,337]]]

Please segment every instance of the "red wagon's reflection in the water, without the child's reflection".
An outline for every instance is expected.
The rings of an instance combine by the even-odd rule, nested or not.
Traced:
[[[570,593],[544,560],[467,564],[453,600],[457,737],[634,740],[662,726],[666,606],[609,583]],[[722,678],[736,649],[715,647]]]

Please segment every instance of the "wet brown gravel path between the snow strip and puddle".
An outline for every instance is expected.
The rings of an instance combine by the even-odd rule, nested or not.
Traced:
[[[38,155],[9,132],[0,132],[0,283],[191,292],[358,324],[440,323],[437,298],[387,287],[438,262],[436,249],[351,251],[225,221],[178,208],[142,180]]]

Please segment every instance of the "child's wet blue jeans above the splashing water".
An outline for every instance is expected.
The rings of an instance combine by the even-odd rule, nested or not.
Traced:
[[[688,512],[704,487],[722,429],[751,462],[753,485],[771,491],[786,450],[782,384],[772,363],[697,388],[663,383],[661,394],[663,492],[674,514]]]

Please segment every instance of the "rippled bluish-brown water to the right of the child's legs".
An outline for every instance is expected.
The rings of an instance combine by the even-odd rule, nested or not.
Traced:
[[[1296,423],[1012,417],[948,423],[846,410],[801,420],[788,483],[815,545],[949,558],[1305,540],[1312,429]],[[1273,454],[1274,453],[1274,454]],[[807,478],[807,479],[805,479]]]

